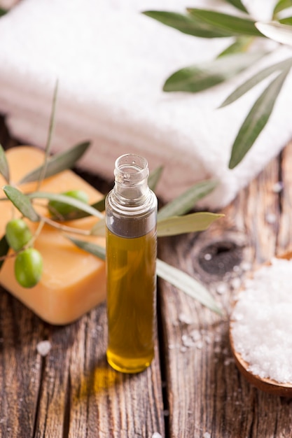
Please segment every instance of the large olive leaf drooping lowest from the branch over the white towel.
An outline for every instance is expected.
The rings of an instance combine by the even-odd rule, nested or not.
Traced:
[[[249,151],[260,132],[263,130],[269,120],[274,107],[274,103],[279,95],[281,87],[288,75],[289,69],[285,69],[268,85],[251,111],[244,120],[239,129],[235,142],[232,146],[232,152],[229,162],[229,168],[234,169],[242,158]]]

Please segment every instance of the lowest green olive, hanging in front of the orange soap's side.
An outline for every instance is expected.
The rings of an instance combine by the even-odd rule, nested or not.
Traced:
[[[35,248],[21,251],[15,258],[15,278],[23,288],[32,288],[41,279],[43,272],[43,258]]]

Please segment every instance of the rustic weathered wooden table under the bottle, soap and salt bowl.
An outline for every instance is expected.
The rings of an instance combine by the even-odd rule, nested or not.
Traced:
[[[17,144],[3,120],[0,141]],[[160,258],[207,285],[226,317],[159,281],[155,360],[141,374],[106,364],[105,304],[55,327],[1,290],[0,436],[292,437],[292,399],[246,383],[228,342],[228,313],[246,273],[291,248],[291,203],[292,144],[207,232],[160,239]],[[45,339],[52,349],[42,357],[36,346]]]

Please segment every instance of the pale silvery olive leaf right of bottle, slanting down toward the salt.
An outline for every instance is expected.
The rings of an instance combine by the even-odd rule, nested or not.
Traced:
[[[162,262],[162,260],[156,261],[156,273],[160,278],[174,285],[176,288],[185,292],[192,298],[197,299],[198,302],[207,306],[212,311],[222,314],[221,309],[216,304],[214,298],[210,295],[208,290],[204,286],[195,280],[195,278],[186,274],[169,264]]]

